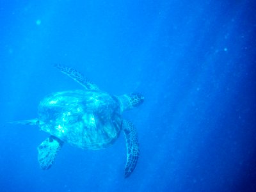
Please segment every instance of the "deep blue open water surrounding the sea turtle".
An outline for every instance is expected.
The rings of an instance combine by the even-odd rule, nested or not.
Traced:
[[[253,1],[1,1],[0,191],[256,191]],[[140,159],[124,179],[122,134],[104,150],[64,145],[43,171],[36,118],[52,92],[83,89],[76,68],[113,95]]]

